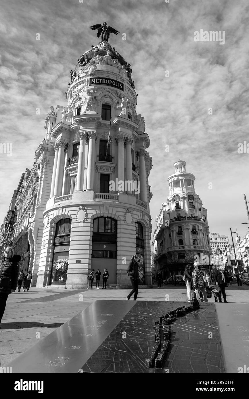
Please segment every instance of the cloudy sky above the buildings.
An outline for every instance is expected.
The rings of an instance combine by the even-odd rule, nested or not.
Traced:
[[[150,137],[153,231],[180,158],[195,175],[210,232],[246,232],[249,154],[238,144],[249,147],[248,0],[8,0],[0,18],[0,143],[13,148],[0,154],[0,223],[32,168],[50,105],[66,105],[70,69],[99,41],[89,26],[107,21],[120,31],[109,42],[131,64]],[[224,31],[225,43],[194,41],[201,29]]]

